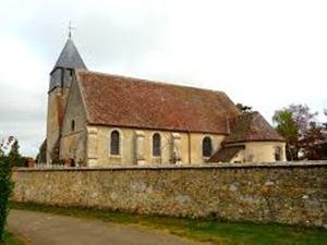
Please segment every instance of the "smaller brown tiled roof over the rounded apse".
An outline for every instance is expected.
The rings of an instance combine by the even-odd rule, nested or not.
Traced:
[[[258,112],[241,114],[230,120],[230,135],[225,144],[242,142],[284,142]]]

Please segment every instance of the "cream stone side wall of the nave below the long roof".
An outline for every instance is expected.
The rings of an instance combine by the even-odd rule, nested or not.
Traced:
[[[87,156],[88,166],[130,166],[132,164],[170,164],[172,163],[172,134],[177,134],[179,139],[178,157],[180,163],[183,164],[201,164],[205,162],[202,156],[202,140],[205,136],[211,137],[213,152],[215,152],[221,145],[222,135],[215,134],[199,134],[199,133],[182,133],[169,131],[150,131],[140,128],[122,128],[122,127],[107,127],[107,126],[87,126]],[[113,130],[120,133],[120,156],[110,155],[110,134]],[[153,156],[153,135],[160,134],[161,138],[161,156]],[[136,135],[142,135],[143,146],[141,155],[143,161],[136,159]],[[190,147],[189,147],[190,146]],[[140,157],[140,156],[138,156]]]

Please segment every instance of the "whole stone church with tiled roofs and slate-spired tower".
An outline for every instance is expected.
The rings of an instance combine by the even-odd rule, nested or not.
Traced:
[[[272,162],[284,146],[223,91],[88,71],[71,38],[50,73],[48,166]]]

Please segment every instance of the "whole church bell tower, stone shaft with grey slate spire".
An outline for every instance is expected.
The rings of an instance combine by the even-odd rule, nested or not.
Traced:
[[[59,160],[61,126],[74,70],[87,70],[77,48],[69,38],[50,72],[47,115],[47,166]]]

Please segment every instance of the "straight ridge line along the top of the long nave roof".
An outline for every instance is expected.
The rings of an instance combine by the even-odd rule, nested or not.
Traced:
[[[97,72],[97,71],[89,71],[89,70],[82,70],[82,69],[77,69],[76,71],[78,73],[90,73],[90,74],[101,75],[101,76],[106,76],[106,77],[134,79],[135,82],[143,82],[143,83],[158,84],[158,85],[164,85],[164,86],[173,86],[173,87],[181,87],[181,88],[197,89],[197,90],[210,91],[210,93],[227,96],[226,93],[222,91],[222,90],[214,90],[214,89],[209,89],[209,88],[201,88],[201,87],[193,87],[193,86],[181,85],[181,84],[173,84],[173,82],[171,82],[171,81],[157,81],[157,79],[153,81],[153,79],[148,79],[148,78],[140,78],[140,77],[134,77],[134,76],[126,76],[126,75],[120,75],[120,74],[110,74],[110,73],[105,73],[105,72]]]

